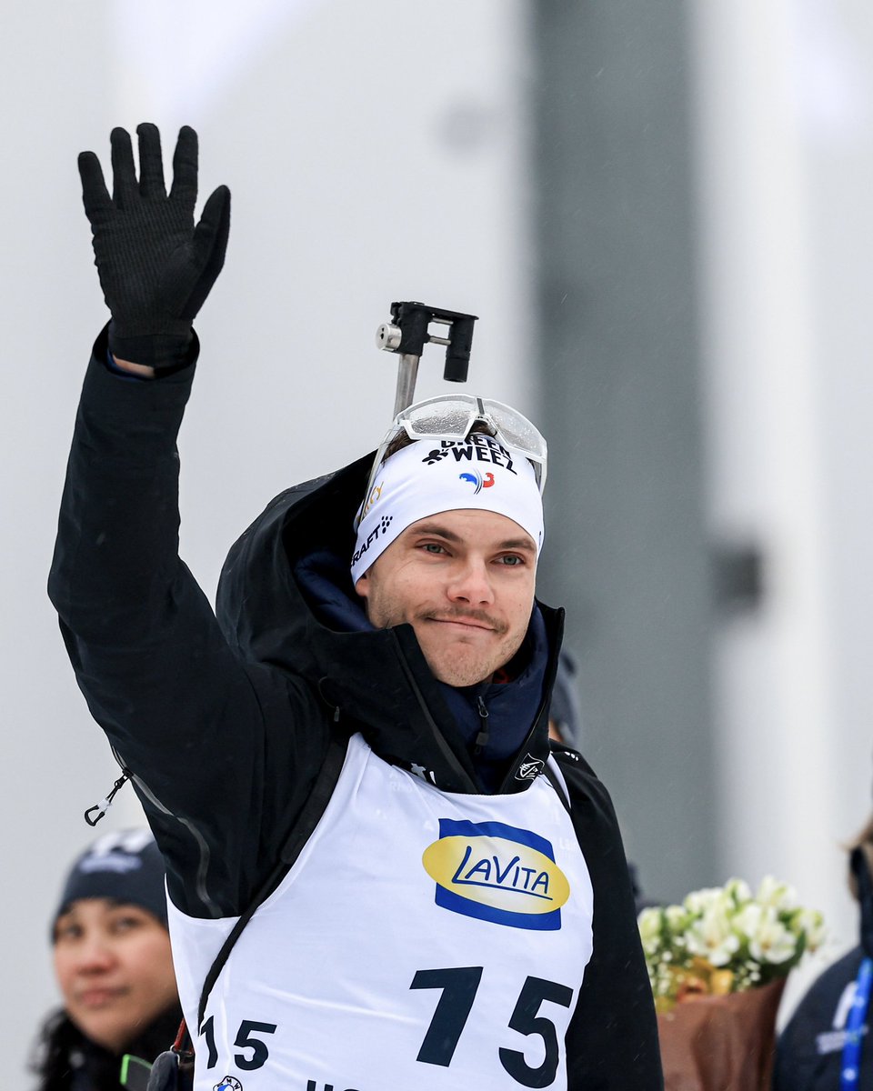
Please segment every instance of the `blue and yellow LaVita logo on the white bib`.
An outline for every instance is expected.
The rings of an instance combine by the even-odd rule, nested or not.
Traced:
[[[513,928],[553,932],[570,884],[539,834],[498,822],[440,819],[421,856],[442,909]]]

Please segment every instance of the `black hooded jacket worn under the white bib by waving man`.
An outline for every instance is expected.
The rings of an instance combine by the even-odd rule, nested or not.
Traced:
[[[101,335],[76,418],[49,590],[91,710],[134,772],[179,908],[195,916],[246,908],[337,718],[382,758],[432,770],[446,791],[482,792],[457,692],[434,680],[411,626],[334,627],[304,576],[313,554],[350,556],[371,456],[272,502],[230,551],[216,620],[178,558],[176,435],[194,368],[137,382],[110,373],[105,359]],[[533,711],[521,745],[494,758],[501,791],[523,791],[528,781],[516,772],[549,753],[563,615],[539,610],[550,650],[533,706],[527,690]],[[498,720],[502,705],[512,718],[514,686],[492,695]],[[561,748],[557,757],[595,890],[594,956],[567,1044],[571,1087],[659,1088],[651,992],[612,805],[579,755]]]

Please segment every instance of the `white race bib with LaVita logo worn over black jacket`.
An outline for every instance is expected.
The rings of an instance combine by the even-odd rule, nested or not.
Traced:
[[[570,815],[545,776],[510,795],[440,792],[426,778],[352,736],[200,1034],[203,980],[236,919],[170,906],[195,1091],[566,1088],[564,1036],[593,942]]]

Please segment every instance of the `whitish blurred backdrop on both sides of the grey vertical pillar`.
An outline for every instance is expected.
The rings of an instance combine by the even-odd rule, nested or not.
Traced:
[[[536,419],[529,27],[522,0],[4,9],[0,1026],[13,1086],[57,998],[60,877],[89,838],[82,812],[116,777],[45,594],[106,320],[76,154],[108,163],[112,125],[142,120],[169,152],[189,123],[203,195],[234,194],[181,441],[182,552],[212,595],[272,495],[381,434],[395,367],[373,334],[393,299],[481,315],[477,386]],[[775,573],[768,610],[714,651],[720,864],[725,878],[794,883],[838,949],[854,928],[839,842],[873,779],[873,13],[710,0],[689,45],[711,519],[764,540]],[[434,351],[419,393],[441,388]],[[139,820],[128,788],[105,826]]]

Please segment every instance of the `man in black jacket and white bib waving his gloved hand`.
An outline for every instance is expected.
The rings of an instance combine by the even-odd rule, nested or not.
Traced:
[[[615,816],[548,739],[542,436],[485,398],[410,406],[374,455],[267,505],[216,618],[178,556],[176,437],[229,193],[195,227],[194,133],[169,195],[139,134],[137,179],[112,133],[111,197],[80,159],[111,322],[50,594],[166,859],[198,1091],[655,1091]]]

